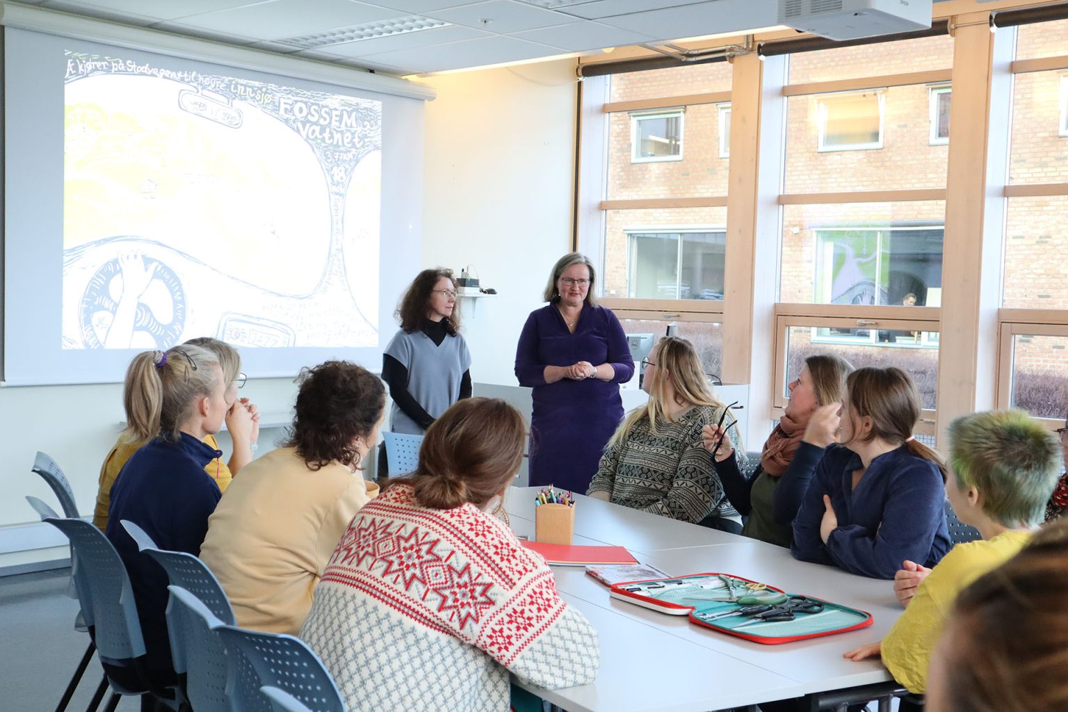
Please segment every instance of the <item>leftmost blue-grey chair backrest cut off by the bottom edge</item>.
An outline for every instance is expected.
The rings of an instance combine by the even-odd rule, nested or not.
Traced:
[[[186,697],[197,712],[231,712],[226,692],[229,656],[218,630],[224,624],[203,601],[180,586],[168,586],[167,632],[174,670],[186,674]]]

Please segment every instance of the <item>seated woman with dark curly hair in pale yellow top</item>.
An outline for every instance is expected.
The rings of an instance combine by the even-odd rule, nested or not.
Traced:
[[[382,381],[356,364],[327,361],[301,374],[289,439],[231,484],[201,547],[238,626],[300,631],[337,540],[378,494],[362,462],[384,408]]]

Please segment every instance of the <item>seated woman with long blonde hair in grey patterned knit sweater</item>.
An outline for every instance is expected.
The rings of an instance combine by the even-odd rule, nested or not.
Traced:
[[[693,344],[664,336],[649,352],[642,390],[646,405],[632,410],[604,448],[587,494],[633,509],[713,528],[741,531],[723,494],[701,433],[727,426],[726,440],[741,448],[735,415],[712,394]],[[724,422],[725,421],[725,422]],[[741,455],[744,462],[744,455]]]

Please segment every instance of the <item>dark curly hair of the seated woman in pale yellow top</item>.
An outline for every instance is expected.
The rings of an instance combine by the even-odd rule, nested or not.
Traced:
[[[296,447],[310,470],[334,460],[358,466],[356,439],[375,429],[386,408],[386,386],[363,366],[327,361],[300,370],[300,392],[283,447]]]

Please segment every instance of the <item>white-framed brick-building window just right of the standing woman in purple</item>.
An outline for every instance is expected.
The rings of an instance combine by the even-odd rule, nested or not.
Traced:
[[[627,297],[722,301],[722,228],[635,228],[626,234]]]

